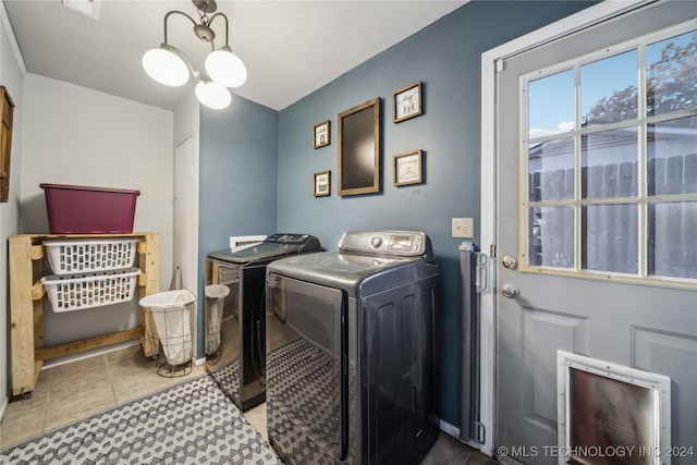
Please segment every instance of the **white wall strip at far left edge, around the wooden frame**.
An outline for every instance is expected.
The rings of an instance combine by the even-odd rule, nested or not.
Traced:
[[[22,115],[24,113],[23,103],[23,79],[22,72],[24,64],[15,59],[10,45],[7,30],[7,20],[4,7],[1,8],[3,21],[0,22],[0,84],[9,91],[14,101],[14,124],[12,131],[12,164],[10,167],[10,200],[0,204],[0,418],[4,413],[11,380],[9,379],[9,292],[8,292],[8,237],[16,234],[20,229],[20,185],[21,185],[21,160],[22,160]]]

